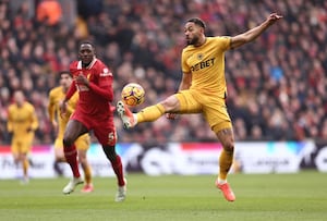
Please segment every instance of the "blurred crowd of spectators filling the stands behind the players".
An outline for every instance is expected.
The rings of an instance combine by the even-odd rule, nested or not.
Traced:
[[[46,5],[51,3],[51,7]],[[226,53],[228,110],[237,140],[327,139],[327,1],[324,0],[2,0],[0,2],[0,144],[9,144],[7,107],[23,89],[37,111],[35,143],[50,144],[48,93],[57,73],[77,59],[83,39],[114,73],[121,88],[140,83],[144,105],[172,95],[181,79],[184,22],[207,24],[207,35],[234,36],[283,15],[256,41]],[[119,142],[217,140],[201,114],[160,118],[124,131]]]

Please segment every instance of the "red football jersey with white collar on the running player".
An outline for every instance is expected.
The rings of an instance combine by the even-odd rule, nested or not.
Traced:
[[[66,98],[70,98],[75,90],[78,91],[80,98],[75,111],[97,119],[111,115],[110,102],[113,100],[113,76],[109,67],[100,60],[94,59],[86,67],[82,67],[81,61],[72,62],[70,72],[74,79],[83,74],[89,81],[89,87],[73,81]]]

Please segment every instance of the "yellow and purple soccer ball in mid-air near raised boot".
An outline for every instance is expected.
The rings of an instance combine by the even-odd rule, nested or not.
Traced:
[[[130,83],[121,91],[121,99],[128,106],[138,106],[144,101],[145,91],[140,84]]]

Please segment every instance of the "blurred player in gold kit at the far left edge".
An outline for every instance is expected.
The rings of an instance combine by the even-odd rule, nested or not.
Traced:
[[[28,154],[31,151],[34,133],[38,128],[38,120],[32,103],[25,100],[22,90],[14,93],[14,102],[8,108],[8,132],[12,134],[11,151],[14,162],[23,168],[22,184],[29,182]]]

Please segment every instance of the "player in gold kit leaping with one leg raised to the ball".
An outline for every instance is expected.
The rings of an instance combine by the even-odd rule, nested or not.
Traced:
[[[233,162],[234,136],[225,102],[227,96],[225,51],[253,41],[281,17],[272,13],[258,26],[234,37],[206,37],[205,23],[199,19],[189,20],[184,26],[187,47],[182,51],[183,76],[179,93],[138,113],[132,113],[122,101],[119,101],[117,111],[124,127],[155,121],[165,113],[171,119],[175,113],[202,113],[223,147],[215,185],[227,200],[234,201],[235,196],[227,182]]]

